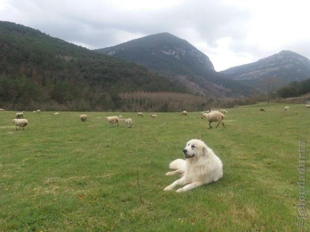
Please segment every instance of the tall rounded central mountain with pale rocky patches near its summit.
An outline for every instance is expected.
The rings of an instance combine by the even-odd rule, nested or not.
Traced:
[[[223,78],[204,53],[170,33],[149,35],[94,51],[141,64],[180,81],[191,92],[206,96],[248,96],[255,92],[241,82]]]

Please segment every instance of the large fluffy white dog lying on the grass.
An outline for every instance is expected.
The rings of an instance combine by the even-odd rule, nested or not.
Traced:
[[[192,139],[188,141],[183,152],[186,160],[173,160],[169,164],[169,168],[175,171],[166,173],[166,175],[181,174],[182,177],[164,188],[164,190],[172,190],[178,185],[186,185],[176,190],[177,192],[185,192],[212,181],[217,181],[223,176],[222,161],[201,140]]]

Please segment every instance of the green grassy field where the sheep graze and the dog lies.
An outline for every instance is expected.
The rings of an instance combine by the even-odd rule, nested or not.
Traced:
[[[82,123],[82,112],[26,112],[29,131],[16,131],[16,112],[0,112],[0,231],[302,231],[297,149],[306,140],[310,173],[310,109],[283,109],[228,109],[225,128],[211,130],[200,112],[157,120],[122,113],[131,129],[108,126],[105,117],[119,113],[87,112]],[[163,191],[179,178],[165,176],[169,162],[193,138],[216,152],[223,177],[186,193]]]

